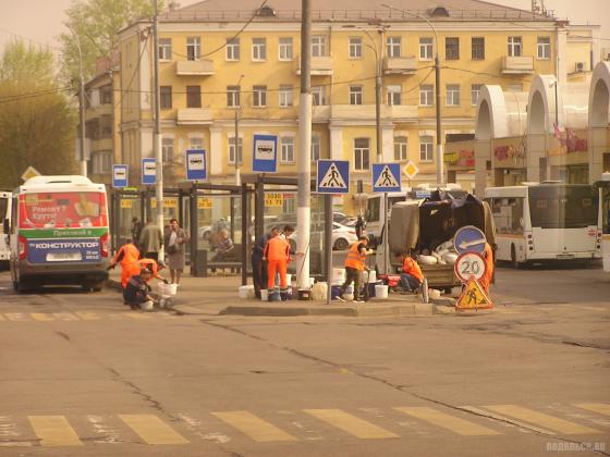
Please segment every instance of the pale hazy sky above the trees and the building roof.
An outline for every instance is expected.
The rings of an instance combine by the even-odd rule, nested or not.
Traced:
[[[179,0],[182,7],[198,0]],[[332,1],[332,0],[331,0]],[[72,0],[0,0],[0,50],[4,44],[21,36],[35,44],[58,47],[57,36],[66,28],[64,11]],[[529,10],[532,0],[490,0],[513,8]],[[272,3],[272,0],[271,0]],[[430,2],[432,3],[432,2]],[[439,0],[451,5],[451,0]],[[568,17],[572,24],[599,24],[602,48],[610,48],[610,0],[545,0],[547,10]]]

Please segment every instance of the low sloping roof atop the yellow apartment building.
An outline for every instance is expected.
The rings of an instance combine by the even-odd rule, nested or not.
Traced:
[[[383,3],[389,3],[395,9],[390,10],[383,7]],[[248,21],[261,4],[263,0],[203,0],[168,11],[159,15],[159,20],[161,22]],[[481,0],[451,0],[447,3],[442,0],[438,2],[434,0],[312,0],[313,21],[422,21],[417,15],[434,21],[556,21],[549,15]],[[264,11],[255,17],[255,21],[278,20],[300,21],[301,0],[268,0]]]

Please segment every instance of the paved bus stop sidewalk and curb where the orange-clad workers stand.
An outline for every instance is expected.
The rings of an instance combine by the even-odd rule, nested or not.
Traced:
[[[120,268],[110,271],[108,286],[120,288]],[[152,281],[155,288],[157,281]],[[434,304],[423,304],[414,295],[390,294],[387,299],[371,299],[366,304],[333,301],[260,301],[240,298],[237,288],[242,285],[240,275],[215,275],[193,277],[185,269],[173,309],[184,314],[205,316],[343,316],[343,317],[407,317],[432,316]]]

